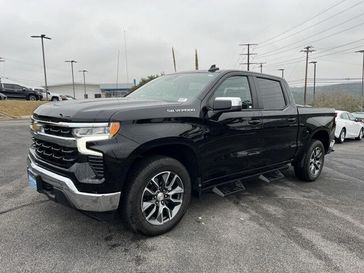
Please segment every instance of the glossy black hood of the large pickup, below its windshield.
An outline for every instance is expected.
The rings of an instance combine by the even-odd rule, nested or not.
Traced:
[[[121,121],[166,117],[173,112],[176,113],[175,109],[181,108],[180,106],[181,103],[133,98],[70,100],[43,104],[34,111],[34,114],[73,122]],[[190,109],[188,106],[183,108]]]

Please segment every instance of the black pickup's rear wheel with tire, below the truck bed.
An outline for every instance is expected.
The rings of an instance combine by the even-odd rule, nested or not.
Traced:
[[[315,181],[321,174],[325,161],[325,148],[320,140],[313,140],[304,157],[294,165],[296,177]]]

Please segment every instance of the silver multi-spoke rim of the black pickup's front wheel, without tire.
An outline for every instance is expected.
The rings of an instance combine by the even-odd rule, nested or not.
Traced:
[[[172,220],[183,203],[184,186],[178,174],[164,171],[155,175],[143,190],[141,210],[152,225],[163,225]]]

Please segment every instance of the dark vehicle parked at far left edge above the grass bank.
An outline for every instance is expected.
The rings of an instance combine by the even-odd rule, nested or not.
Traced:
[[[42,93],[12,83],[0,83],[0,92],[11,99],[41,100]]]

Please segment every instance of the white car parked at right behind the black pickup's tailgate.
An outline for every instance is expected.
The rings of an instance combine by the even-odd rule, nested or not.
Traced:
[[[363,123],[349,112],[336,111],[336,142],[343,143],[346,138],[362,139],[364,135]]]

